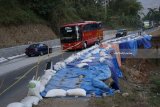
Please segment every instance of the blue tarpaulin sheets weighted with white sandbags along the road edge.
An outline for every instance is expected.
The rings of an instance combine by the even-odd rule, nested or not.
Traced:
[[[151,47],[150,40],[151,37],[148,35],[140,39],[124,39],[123,42],[119,43],[119,47],[121,51],[131,52],[133,55],[136,55],[140,45],[143,45],[144,48]],[[103,48],[100,48],[100,50],[104,51]],[[91,51],[88,53],[91,53]],[[110,54],[111,51],[113,51],[113,49],[105,50],[105,53]],[[59,70],[56,75],[51,78],[41,95],[45,97],[47,92],[52,89],[68,90],[74,88],[85,89],[87,95],[91,95],[92,93],[97,96],[103,93],[112,95],[114,90],[104,81],[112,78],[116,87],[119,89],[118,78],[123,77],[123,75],[118,66],[116,56],[112,55],[111,59],[106,59],[104,62],[99,61],[101,57],[99,53],[92,54],[92,57],[95,57],[95,59],[92,62],[88,62],[88,66],[83,68],[78,68],[76,65],[81,63],[83,59],[86,59],[86,54],[67,64],[66,68]]]

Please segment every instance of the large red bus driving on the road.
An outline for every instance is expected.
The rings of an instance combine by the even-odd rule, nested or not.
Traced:
[[[103,39],[102,23],[84,21],[63,25],[60,28],[63,50],[87,48]]]

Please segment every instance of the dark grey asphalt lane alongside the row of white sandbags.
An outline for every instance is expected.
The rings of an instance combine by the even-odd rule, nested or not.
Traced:
[[[52,57],[51,59],[45,59],[39,64],[38,67],[38,76],[42,76],[44,73],[44,69],[46,67],[46,63],[48,61],[52,61],[53,64],[62,60],[63,58],[67,58],[73,52],[66,52],[62,55],[58,55]],[[23,58],[22,58],[23,59]],[[19,60],[22,60],[21,58]],[[18,60],[18,59],[16,59]],[[0,76],[0,93],[2,93],[7,87],[11,86],[15,81],[21,78],[28,70],[34,67],[36,64],[31,64],[22,68],[19,68],[11,73],[7,73],[3,76]],[[36,74],[37,67],[32,69],[31,72],[26,75],[20,82],[14,85],[12,88],[7,90],[5,93],[0,95],[0,107],[6,107],[7,104],[20,101],[27,95],[27,84],[32,79],[32,77]]]

